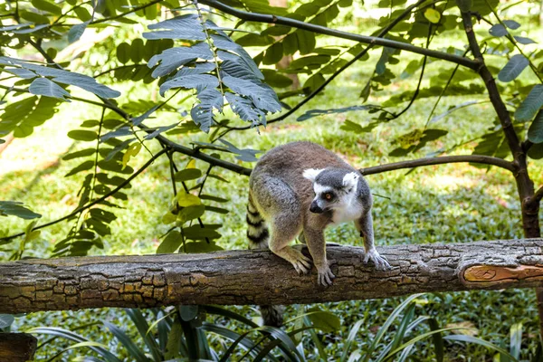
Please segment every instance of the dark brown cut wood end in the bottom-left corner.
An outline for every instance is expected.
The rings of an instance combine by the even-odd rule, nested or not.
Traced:
[[[33,359],[38,340],[26,333],[0,333],[0,362]]]

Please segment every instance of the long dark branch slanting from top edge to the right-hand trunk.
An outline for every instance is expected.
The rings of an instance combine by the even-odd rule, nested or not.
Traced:
[[[304,22],[301,22],[300,20],[295,20],[288,17],[284,17],[284,16],[248,13],[242,10],[235,9],[231,6],[224,5],[223,3],[220,3],[216,0],[200,0],[200,4],[211,6],[226,14],[231,14],[237,17],[238,19],[242,19],[245,21],[268,23],[268,24],[281,24],[281,25],[290,26],[297,29],[307,30],[312,33],[320,33],[320,34],[335,36],[337,38],[348,39],[348,40],[352,40],[359,43],[382,45],[382,46],[387,46],[394,49],[404,50],[406,52],[415,52],[417,54],[427,55],[436,59],[441,59],[443,61],[461,64],[472,70],[477,70],[479,68],[479,62],[472,61],[471,59],[463,58],[461,56],[454,55],[454,54],[449,54],[447,52],[433,51],[431,49],[414,46],[410,43],[395,42],[393,40],[382,39],[376,36],[367,36],[367,35],[359,35],[355,33],[342,32],[339,30],[327,28],[326,26],[304,23]]]

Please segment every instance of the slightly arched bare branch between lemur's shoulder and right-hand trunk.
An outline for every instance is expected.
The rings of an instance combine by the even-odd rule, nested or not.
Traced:
[[[407,160],[401,162],[395,162],[392,164],[379,165],[374,167],[360,168],[359,171],[362,175],[374,175],[383,172],[394,171],[402,168],[415,168],[422,166],[443,165],[452,164],[458,162],[471,162],[474,164],[483,164],[497,166],[505,168],[511,172],[515,171],[514,165],[510,161],[498,157],[481,156],[481,155],[465,155],[465,156],[443,156],[443,157],[429,157],[420,158],[414,160]]]

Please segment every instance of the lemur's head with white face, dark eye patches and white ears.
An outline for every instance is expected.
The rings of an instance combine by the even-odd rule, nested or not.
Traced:
[[[359,175],[341,168],[309,168],[303,176],[313,183],[315,198],[310,212],[322,214],[325,211],[345,208],[355,197]]]

